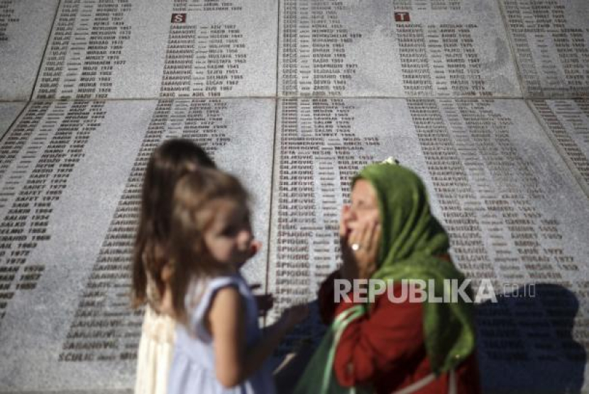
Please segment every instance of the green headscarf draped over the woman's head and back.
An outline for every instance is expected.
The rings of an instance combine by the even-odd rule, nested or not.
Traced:
[[[464,281],[454,264],[440,257],[448,252],[448,235],[431,215],[426,188],[419,176],[398,164],[370,164],[353,179],[375,188],[380,211],[380,252],[373,279],[422,279],[434,284],[434,294],[450,291],[444,279]],[[426,291],[429,289],[426,287]],[[428,293],[429,294],[429,293]],[[447,299],[450,299],[447,296]],[[472,304],[423,303],[424,341],[431,370],[449,371],[475,347]],[[336,344],[334,344],[336,346]]]

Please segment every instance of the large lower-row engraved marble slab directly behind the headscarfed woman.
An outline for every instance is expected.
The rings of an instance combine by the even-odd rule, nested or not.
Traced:
[[[485,392],[588,390],[589,200],[525,101],[283,99],[277,130],[273,318],[314,305],[338,264],[349,179],[392,156],[422,174],[475,291],[495,289],[476,307]],[[320,335],[309,319],[281,351]]]

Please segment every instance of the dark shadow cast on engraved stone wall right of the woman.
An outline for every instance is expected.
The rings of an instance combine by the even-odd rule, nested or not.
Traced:
[[[571,331],[579,302],[541,283],[477,305],[484,393],[580,393],[587,354]]]

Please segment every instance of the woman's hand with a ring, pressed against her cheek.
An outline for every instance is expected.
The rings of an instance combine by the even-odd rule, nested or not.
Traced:
[[[343,264],[342,278],[368,279],[376,271],[380,245],[380,224],[376,221],[351,220],[349,206],[343,206],[339,227]]]

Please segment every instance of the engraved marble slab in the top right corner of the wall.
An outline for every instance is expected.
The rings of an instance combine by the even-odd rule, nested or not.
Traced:
[[[589,96],[589,3],[500,1],[525,96]]]

